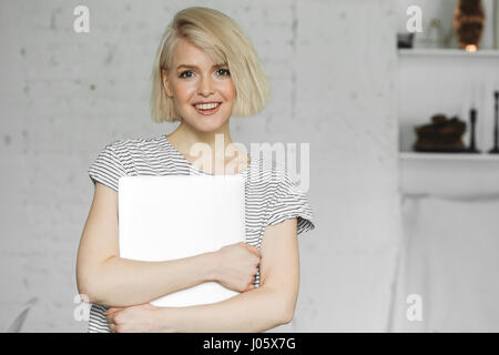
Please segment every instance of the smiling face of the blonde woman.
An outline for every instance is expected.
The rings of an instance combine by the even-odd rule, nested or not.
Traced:
[[[197,131],[212,132],[232,114],[235,90],[227,65],[215,65],[198,47],[179,41],[163,83],[177,113]]]

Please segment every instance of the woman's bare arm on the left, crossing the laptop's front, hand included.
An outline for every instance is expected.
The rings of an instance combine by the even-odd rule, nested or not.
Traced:
[[[237,277],[233,282],[224,275],[224,281],[228,287],[243,292],[251,290],[253,264],[259,262],[258,251],[249,245],[166,262],[133,261],[120,258],[119,254],[118,194],[95,183],[77,261],[79,292],[91,303],[115,307],[147,303],[203,282],[217,281],[218,265],[227,260],[235,267],[231,275]]]

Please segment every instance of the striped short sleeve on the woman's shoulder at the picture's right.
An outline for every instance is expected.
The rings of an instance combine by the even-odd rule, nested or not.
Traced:
[[[268,204],[266,225],[296,217],[297,235],[314,230],[314,212],[308,204],[306,193],[289,179],[287,173],[284,173],[277,184],[276,193]]]

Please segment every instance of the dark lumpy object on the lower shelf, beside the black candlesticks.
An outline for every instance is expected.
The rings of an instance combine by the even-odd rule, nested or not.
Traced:
[[[431,123],[415,126],[417,152],[466,152],[461,138],[466,131],[466,122],[457,116],[447,119],[445,114],[436,114]]]

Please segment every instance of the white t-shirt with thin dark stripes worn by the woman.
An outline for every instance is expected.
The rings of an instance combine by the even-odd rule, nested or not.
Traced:
[[[89,168],[92,181],[118,192],[121,176],[203,175],[167,140],[165,134],[146,139],[119,140],[108,144]],[[259,250],[265,226],[297,217],[297,235],[315,227],[313,210],[303,192],[275,162],[251,155],[248,166],[238,172],[245,180],[246,243]],[[210,174],[208,174],[210,175]],[[259,286],[259,268],[255,276]],[[92,304],[89,332],[111,332],[105,305]]]

